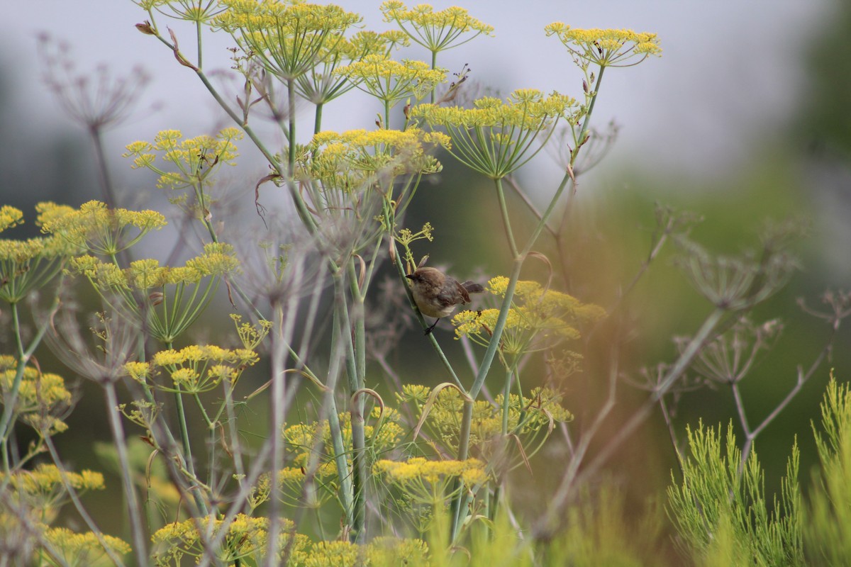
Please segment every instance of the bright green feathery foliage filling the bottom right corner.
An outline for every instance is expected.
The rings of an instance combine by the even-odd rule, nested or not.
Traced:
[[[668,490],[683,553],[700,565],[844,565],[851,562],[851,388],[831,379],[813,426],[820,470],[810,504],[797,481],[792,446],[780,496],[769,502],[751,452],[745,463],[732,425],[688,429],[683,480]],[[769,509],[771,510],[769,512]],[[805,560],[806,558],[806,560]]]

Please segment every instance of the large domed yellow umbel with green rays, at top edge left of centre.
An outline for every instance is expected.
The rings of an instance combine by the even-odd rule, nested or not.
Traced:
[[[343,44],[361,16],[334,4],[223,0],[214,25],[230,33],[243,51],[283,81],[293,80]],[[344,44],[345,45],[345,44]]]

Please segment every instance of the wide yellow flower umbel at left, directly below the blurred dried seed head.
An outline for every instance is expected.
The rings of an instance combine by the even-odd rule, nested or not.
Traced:
[[[53,214],[50,218],[43,216],[42,231],[59,235],[71,245],[86,247],[94,254],[114,256],[165,224],[165,217],[156,211],[110,209],[106,203],[89,201],[76,211]]]

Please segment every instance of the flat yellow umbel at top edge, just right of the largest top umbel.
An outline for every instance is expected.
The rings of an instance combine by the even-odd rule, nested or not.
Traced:
[[[407,9],[398,0],[388,0],[381,4],[385,21],[396,23],[414,42],[419,43],[432,53],[454,48],[469,42],[479,34],[493,35],[493,26],[488,26],[467,13],[466,9],[452,6],[435,12],[429,4],[418,4]],[[464,41],[454,43],[462,34],[475,32]]]

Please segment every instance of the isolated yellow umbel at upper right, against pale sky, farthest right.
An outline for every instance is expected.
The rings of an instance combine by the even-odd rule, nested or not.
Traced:
[[[582,30],[562,22],[553,22],[544,28],[546,35],[557,36],[568,51],[580,61],[601,67],[637,65],[650,55],[659,56],[659,37],[654,33],[632,30]],[[639,58],[637,61],[636,58]]]

